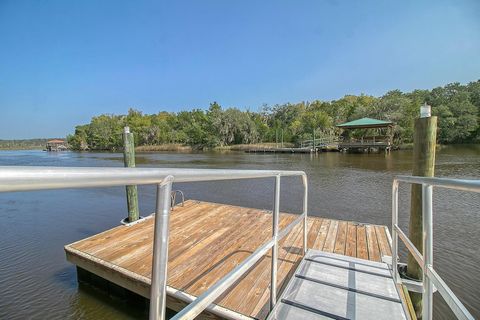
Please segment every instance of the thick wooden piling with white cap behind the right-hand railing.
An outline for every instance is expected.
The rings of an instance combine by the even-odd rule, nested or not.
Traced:
[[[425,107],[428,106],[422,108]],[[415,121],[412,175],[433,177],[435,168],[436,137],[437,117],[431,117],[429,114],[426,114]],[[424,214],[426,214],[422,214],[422,209],[422,186],[414,184],[412,185],[411,190],[409,238],[421,253],[424,252],[423,219],[425,218]],[[422,279],[422,268],[418,265],[411,254],[408,255],[407,275],[414,279]],[[410,298],[417,317],[421,318],[422,295],[420,293],[410,292]]]

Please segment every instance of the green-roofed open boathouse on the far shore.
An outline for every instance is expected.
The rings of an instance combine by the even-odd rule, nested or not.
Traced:
[[[362,118],[336,126],[344,130],[352,130],[342,134],[344,139],[339,142],[341,151],[372,152],[390,151],[393,146],[393,127],[391,121],[372,118]]]

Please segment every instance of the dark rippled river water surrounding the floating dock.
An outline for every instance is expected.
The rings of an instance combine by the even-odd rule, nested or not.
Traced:
[[[121,154],[0,151],[0,165],[122,166]],[[319,155],[146,153],[139,166],[304,170],[309,214],[390,225],[391,182],[409,174],[409,151]],[[480,146],[439,150],[436,175],[479,178]],[[283,179],[281,209],[300,212],[301,182]],[[273,180],[179,184],[187,198],[271,208]],[[408,221],[408,189],[401,188],[400,221]],[[154,208],[154,189],[140,188],[143,214]],[[434,191],[435,268],[480,318],[480,195]],[[63,246],[118,225],[124,188],[0,194],[0,319],[136,319],[147,315],[91,288],[78,287]],[[435,319],[451,319],[436,297]]]

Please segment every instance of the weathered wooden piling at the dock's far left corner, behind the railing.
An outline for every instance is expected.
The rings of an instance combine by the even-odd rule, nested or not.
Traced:
[[[123,160],[125,167],[135,167],[135,145],[133,140],[133,133],[130,132],[129,127],[125,127],[123,131]],[[127,208],[128,208],[128,222],[137,221],[139,218],[138,212],[138,191],[137,186],[127,186]]]

